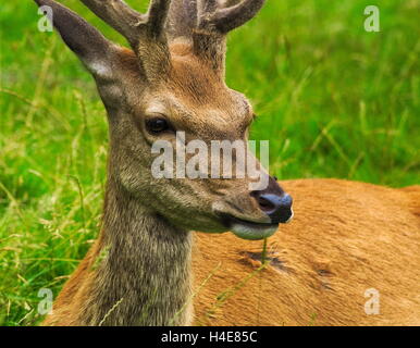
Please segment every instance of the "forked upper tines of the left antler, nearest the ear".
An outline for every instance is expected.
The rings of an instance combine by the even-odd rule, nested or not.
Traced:
[[[139,13],[122,0],[81,0],[96,15],[123,35],[136,49],[143,28],[153,38],[161,36],[171,0],[151,0],[147,14]]]

